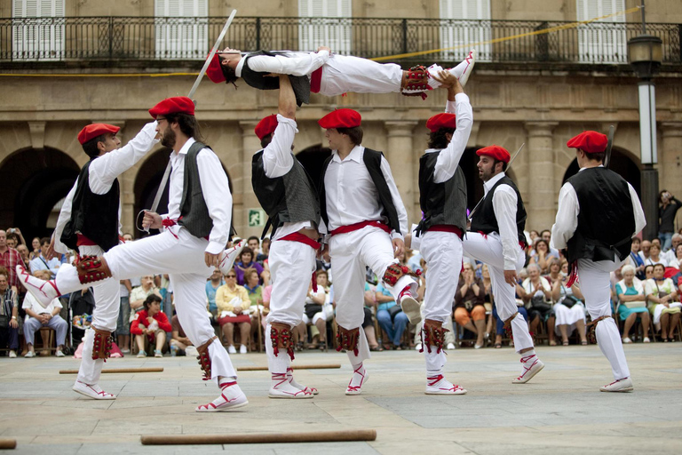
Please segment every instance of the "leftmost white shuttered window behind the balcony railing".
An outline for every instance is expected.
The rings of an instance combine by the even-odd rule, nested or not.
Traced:
[[[64,58],[64,0],[12,0],[12,58]]]

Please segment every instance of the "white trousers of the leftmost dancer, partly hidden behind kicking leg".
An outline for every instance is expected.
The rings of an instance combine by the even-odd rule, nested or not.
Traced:
[[[81,256],[101,256],[104,250],[96,245],[79,246]],[[103,331],[115,331],[118,312],[121,309],[121,286],[114,278],[94,283],[92,286],[95,307],[92,310],[92,326]],[[85,331],[83,339],[83,356],[78,369],[77,380],[85,384],[97,384],[102,373],[104,360],[92,360],[92,342],[94,331]]]

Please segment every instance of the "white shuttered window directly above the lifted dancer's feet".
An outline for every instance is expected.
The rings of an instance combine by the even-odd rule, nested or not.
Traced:
[[[440,44],[442,60],[463,60],[472,47],[469,44],[490,39],[490,0],[440,0]],[[475,46],[477,60],[492,60],[490,44]]]

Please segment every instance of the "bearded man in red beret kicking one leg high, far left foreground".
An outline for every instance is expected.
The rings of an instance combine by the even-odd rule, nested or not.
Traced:
[[[156,120],[155,131],[162,145],[172,149],[168,213],[145,212],[142,221],[144,228],[161,229],[161,233],[119,244],[99,256],[81,258],[75,267],[62,265],[50,282],[28,274],[20,279],[36,299],[45,301],[111,276],[118,282],[133,276],[169,274],[178,319],[197,347],[204,379],[217,380],[220,387],[218,398],[196,411],[231,411],[249,402],[237,386],[230,357],[210,325],[204,291],[206,279],[226,256],[232,215],[227,175],[218,156],[199,141],[202,135],[192,100],[163,100],[149,113]],[[106,358],[110,338],[96,337],[94,346],[99,357]]]

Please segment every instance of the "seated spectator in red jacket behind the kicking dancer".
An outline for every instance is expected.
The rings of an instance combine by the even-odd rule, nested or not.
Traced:
[[[161,311],[161,296],[149,294],[143,303],[144,309],[135,315],[131,323],[131,334],[135,335],[138,344],[138,357],[147,357],[145,350],[145,336],[149,347],[154,347],[154,356],[163,357],[163,347],[166,344],[166,332],[172,331],[168,316]]]

